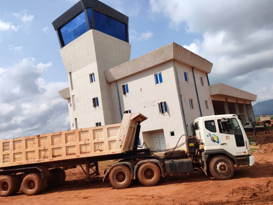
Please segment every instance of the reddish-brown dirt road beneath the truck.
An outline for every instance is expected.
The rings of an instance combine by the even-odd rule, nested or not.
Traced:
[[[81,180],[81,170],[74,169],[66,171],[67,181],[62,186],[37,196],[18,193],[2,197],[0,204],[273,204],[272,132],[258,133],[256,143],[255,165],[236,168],[227,181],[200,172],[165,177],[154,187],[144,187],[135,180],[129,188],[116,190],[109,181],[103,183],[102,176],[89,182]]]

